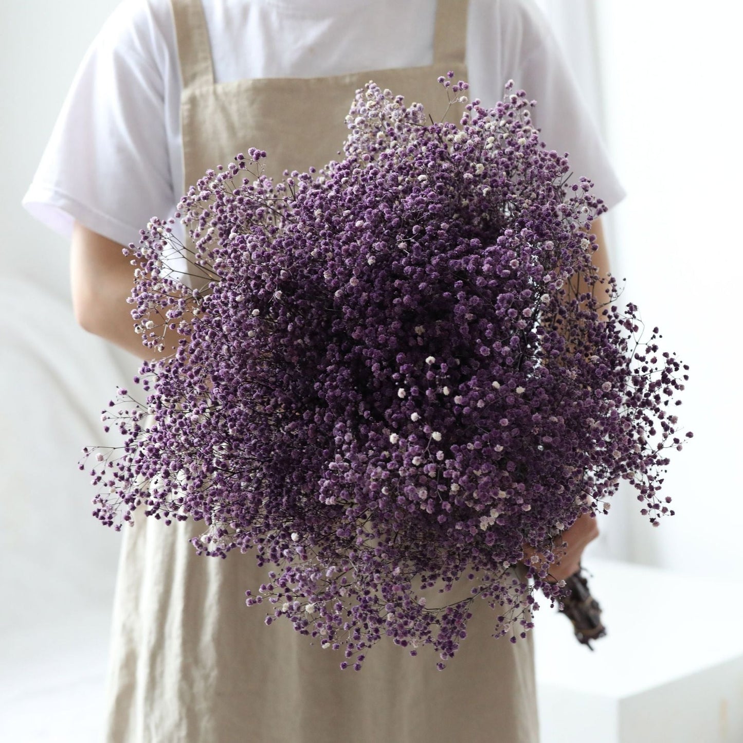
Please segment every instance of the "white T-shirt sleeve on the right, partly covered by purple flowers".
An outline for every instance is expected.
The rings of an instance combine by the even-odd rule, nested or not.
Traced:
[[[536,101],[533,120],[542,141],[560,155],[568,153],[573,178],[594,182],[594,195],[607,208],[626,195],[611,166],[594,112],[581,97],[557,39],[531,0],[471,0],[478,14],[468,42],[473,43],[470,82],[484,105],[501,100],[504,85]],[[497,51],[496,51],[497,50]],[[468,58],[470,48],[468,44]]]

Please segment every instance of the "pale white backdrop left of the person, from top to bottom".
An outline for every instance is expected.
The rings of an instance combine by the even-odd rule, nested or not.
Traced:
[[[0,739],[97,743],[120,535],[77,470],[136,362],[74,322],[68,245],[21,199],[117,0],[0,2]]]

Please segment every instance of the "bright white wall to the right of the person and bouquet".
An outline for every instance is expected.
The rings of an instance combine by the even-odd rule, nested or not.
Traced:
[[[607,133],[629,192],[614,214],[617,275],[691,366],[679,415],[695,438],[663,486],[676,515],[658,529],[633,518],[631,557],[739,576],[742,13],[718,0],[596,6]]]

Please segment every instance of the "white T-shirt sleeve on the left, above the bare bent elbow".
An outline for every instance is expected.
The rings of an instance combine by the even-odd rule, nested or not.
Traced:
[[[172,212],[157,42],[146,2],[128,0],[85,54],[23,200],[56,232],[77,220],[126,245]]]

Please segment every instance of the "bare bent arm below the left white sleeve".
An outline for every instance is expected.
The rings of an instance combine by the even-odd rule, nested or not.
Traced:
[[[72,232],[70,273],[72,304],[77,322],[140,359],[160,359],[172,354],[178,334],[168,331],[163,351],[147,348],[134,332],[132,308],[126,302],[134,286],[132,259],[123,245],[88,230],[76,221]]]

